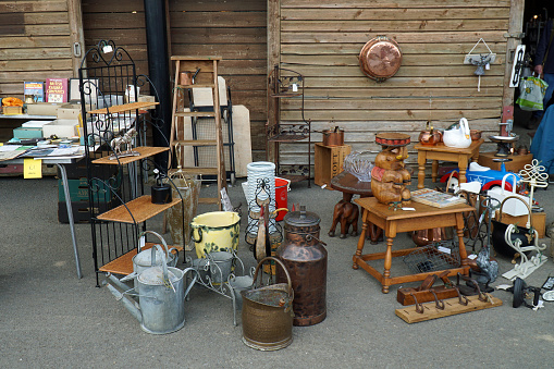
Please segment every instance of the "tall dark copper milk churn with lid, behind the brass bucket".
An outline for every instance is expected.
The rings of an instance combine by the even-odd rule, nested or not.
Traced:
[[[313,212],[288,212],[285,218],[284,239],[276,250],[291,275],[294,290],[294,325],[317,324],[327,317],[327,249],[319,241],[321,219]],[[278,281],[286,278],[276,270]]]

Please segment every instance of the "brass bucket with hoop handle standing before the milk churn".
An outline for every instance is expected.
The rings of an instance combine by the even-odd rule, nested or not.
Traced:
[[[258,272],[266,261],[279,265],[288,283],[257,286]],[[261,278],[260,278],[261,280]],[[243,296],[243,342],[251,348],[275,350],[293,342],[294,292],[291,275],[281,260],[263,258],[254,273],[251,290],[242,291]]]

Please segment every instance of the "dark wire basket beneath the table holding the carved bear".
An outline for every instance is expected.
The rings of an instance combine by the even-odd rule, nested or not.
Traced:
[[[458,268],[460,266],[458,244],[453,241],[441,241],[419,247],[406,255],[404,262],[414,274]]]

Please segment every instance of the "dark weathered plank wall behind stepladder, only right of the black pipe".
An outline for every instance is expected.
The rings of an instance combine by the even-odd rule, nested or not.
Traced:
[[[220,56],[234,104],[250,110],[255,160],[264,159],[267,0],[170,0],[171,52]]]

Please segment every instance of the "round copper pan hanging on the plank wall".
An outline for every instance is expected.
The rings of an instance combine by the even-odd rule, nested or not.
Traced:
[[[383,82],[398,72],[402,64],[401,47],[386,36],[378,36],[361,48],[358,60],[365,75]]]

